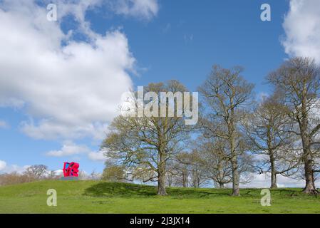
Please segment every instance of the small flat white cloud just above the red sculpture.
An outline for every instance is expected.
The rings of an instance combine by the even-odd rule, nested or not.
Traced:
[[[46,155],[51,157],[63,157],[70,155],[79,155],[88,152],[91,151],[86,145],[76,145],[74,142],[66,141],[61,147],[61,150],[51,150],[49,152],[46,152]]]

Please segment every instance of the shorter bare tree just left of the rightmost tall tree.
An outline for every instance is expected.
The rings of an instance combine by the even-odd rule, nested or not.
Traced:
[[[263,98],[257,108],[242,121],[244,134],[252,151],[259,156],[258,172],[271,173],[271,188],[277,188],[277,175],[288,175],[296,170],[299,159],[294,151],[292,124],[287,118],[287,108],[277,93]]]

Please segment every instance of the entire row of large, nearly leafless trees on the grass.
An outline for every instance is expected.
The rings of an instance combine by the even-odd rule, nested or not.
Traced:
[[[108,157],[104,176],[156,181],[158,195],[167,194],[167,185],[200,187],[213,180],[216,187],[224,187],[230,182],[232,195],[238,196],[240,183],[256,171],[271,174],[271,187],[277,187],[277,175],[302,176],[304,192],[316,192],[316,174],[320,172],[319,66],[310,58],[285,61],[266,78],[273,94],[258,101],[254,85],[244,79],[242,71],[241,67],[212,67],[198,89],[197,125],[185,125],[184,117],[179,116],[115,118],[102,144]],[[150,83],[149,91],[175,95],[187,89],[169,81]],[[131,100],[137,108],[139,100]],[[160,99],[153,102],[160,103]],[[153,109],[159,106],[148,108],[151,113],[158,112]]]

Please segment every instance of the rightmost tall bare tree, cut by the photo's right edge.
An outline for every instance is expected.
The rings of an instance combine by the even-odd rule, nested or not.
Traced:
[[[293,133],[299,135],[302,144],[302,160],[306,185],[304,192],[314,193],[314,157],[316,134],[320,130],[319,115],[312,115],[319,110],[320,68],[311,58],[291,58],[267,77],[269,83],[281,90],[289,109],[288,116],[298,125]]]

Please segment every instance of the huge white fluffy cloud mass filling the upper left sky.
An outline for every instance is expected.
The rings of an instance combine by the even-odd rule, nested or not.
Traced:
[[[36,1],[0,2],[0,107],[27,113],[21,130],[32,138],[100,139],[121,94],[132,87],[128,72],[134,71],[135,58],[121,31],[91,30],[86,11],[102,1],[55,2],[58,21],[48,21],[46,6]],[[143,17],[158,11],[154,0],[121,6],[123,14]],[[86,41],[73,40],[72,31],[63,33],[61,22],[69,14]]]

